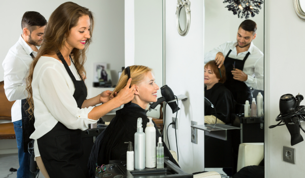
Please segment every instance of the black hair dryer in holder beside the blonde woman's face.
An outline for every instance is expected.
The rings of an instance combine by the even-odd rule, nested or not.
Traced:
[[[173,91],[167,85],[164,85],[161,87],[161,95],[162,95],[162,97],[158,98],[158,100],[155,103],[151,104],[148,110],[155,109],[158,104],[160,104],[164,101],[169,102],[169,101],[175,100],[175,95],[174,95]],[[180,109],[179,107],[177,107],[176,102],[170,102],[167,104],[170,106],[173,113],[177,112]]]

